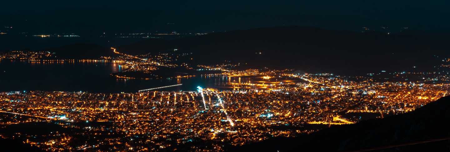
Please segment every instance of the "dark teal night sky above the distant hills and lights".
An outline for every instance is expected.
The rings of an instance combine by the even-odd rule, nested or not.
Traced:
[[[27,32],[210,32],[283,25],[447,32],[450,26],[446,0],[8,0],[0,4],[0,25]]]

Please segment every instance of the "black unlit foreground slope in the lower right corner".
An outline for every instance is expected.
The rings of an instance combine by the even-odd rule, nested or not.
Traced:
[[[450,96],[409,113],[333,126],[296,138],[277,138],[230,151],[450,151]]]

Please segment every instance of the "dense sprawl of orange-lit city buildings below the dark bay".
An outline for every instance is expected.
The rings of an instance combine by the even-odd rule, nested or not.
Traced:
[[[234,90],[5,92],[0,94],[0,128],[27,123],[57,127],[45,135],[11,132],[1,137],[51,150],[222,151],[355,123],[366,113],[382,118],[410,112],[448,94],[445,76],[410,75],[424,79],[279,74],[229,82]],[[441,81],[430,81],[434,77]]]

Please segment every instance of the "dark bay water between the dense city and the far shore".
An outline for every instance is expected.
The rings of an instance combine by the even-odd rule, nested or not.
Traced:
[[[0,91],[86,91],[98,93],[137,92],[141,89],[183,84],[158,90],[193,90],[197,86],[225,87],[239,77],[195,76],[180,79],[117,79],[110,73],[121,72],[118,63],[108,62],[0,62]],[[242,78],[242,81],[251,78]]]

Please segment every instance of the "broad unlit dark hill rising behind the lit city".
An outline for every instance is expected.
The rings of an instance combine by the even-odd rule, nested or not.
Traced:
[[[414,32],[387,35],[314,27],[271,27],[177,40],[144,40],[118,49],[129,54],[173,52],[173,49],[178,49],[175,52],[193,53],[196,62],[201,64],[231,60],[248,63],[249,67],[364,73],[404,70],[413,66],[430,69],[439,64],[434,63],[433,55],[448,49],[445,40],[448,40],[446,36]]]

